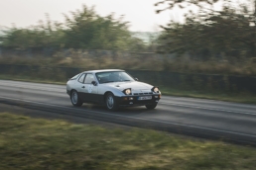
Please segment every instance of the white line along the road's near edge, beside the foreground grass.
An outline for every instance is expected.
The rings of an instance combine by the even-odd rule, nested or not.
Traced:
[[[14,101],[21,101],[18,99],[11,99],[11,98],[6,98],[6,97],[0,97],[2,99],[8,99],[8,100],[14,100]],[[27,103],[33,103],[33,104],[38,104],[38,105],[45,105],[45,106],[53,106],[53,107],[58,107],[58,108],[63,108],[63,109],[71,109],[68,107],[63,107],[63,106],[58,106],[58,105],[51,105],[51,104],[45,104],[45,103],[39,103],[39,102],[33,102],[33,101],[27,101],[27,100],[22,100],[22,102],[27,102]],[[77,111],[82,111],[81,109],[76,109],[72,108]],[[216,129],[216,128],[210,128],[210,127],[197,127],[197,126],[190,126],[190,125],[184,125],[184,124],[179,124],[179,123],[171,123],[171,122],[164,122],[164,121],[157,121],[157,120],[149,120],[145,118],[137,118],[137,117],[129,117],[129,116],[121,116],[121,115],[116,115],[116,114],[108,114],[104,112],[98,112],[98,111],[88,111],[91,113],[97,113],[97,114],[103,114],[103,115],[108,115],[108,116],[114,116],[114,117],[121,117],[121,118],[129,118],[129,119],[134,119],[134,120],[141,120],[141,121],[148,121],[152,123],[161,123],[161,124],[167,124],[167,125],[173,125],[173,126],[181,126],[181,127],[193,127],[193,128],[199,128],[199,129],[206,129],[206,130],[211,130],[211,131],[216,131],[216,132],[225,132],[225,133],[230,133],[230,134],[237,134],[237,135],[244,135],[244,136],[249,136],[249,137],[256,137],[256,135],[253,134],[247,134],[247,133],[241,133],[241,132],[235,132],[235,131],[228,131],[228,130],[223,130],[223,129]]]

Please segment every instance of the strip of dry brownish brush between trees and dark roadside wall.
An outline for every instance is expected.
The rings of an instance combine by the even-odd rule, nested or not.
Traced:
[[[218,61],[218,60],[193,60],[181,58],[166,58],[165,55],[149,56],[147,53],[133,53],[129,56],[122,56],[118,52],[115,55],[94,56],[82,50],[69,50],[68,56],[65,52],[58,51],[51,57],[43,54],[37,57],[21,57],[19,54],[8,54],[1,57],[0,63],[6,64],[26,64],[39,66],[65,66],[65,67],[82,67],[89,69],[134,69],[134,70],[156,70],[179,73],[199,73],[199,74],[221,74],[221,75],[240,75],[256,76],[256,59],[244,61]],[[120,51],[121,52],[121,51]],[[18,52],[19,53],[19,52]]]

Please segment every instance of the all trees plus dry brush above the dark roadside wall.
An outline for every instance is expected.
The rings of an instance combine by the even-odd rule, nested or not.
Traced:
[[[147,42],[139,39],[146,33],[129,31],[124,16],[100,16],[83,5],[65,14],[63,23],[47,16],[46,21],[28,28],[3,28],[0,62],[255,76],[256,1],[223,0],[218,9],[216,3],[215,0],[157,3],[157,13],[174,8],[188,12],[184,23],[172,18],[166,26],[161,26],[159,33],[149,34]],[[198,10],[190,11],[189,5]],[[105,54],[98,57],[94,52],[89,57],[91,50]],[[21,56],[24,51],[29,57]],[[129,54],[120,54],[125,52]],[[149,57],[152,53],[147,52],[163,57]]]

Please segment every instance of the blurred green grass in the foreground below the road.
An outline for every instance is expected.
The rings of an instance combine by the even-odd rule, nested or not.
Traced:
[[[256,148],[0,113],[2,170],[255,169]]]

